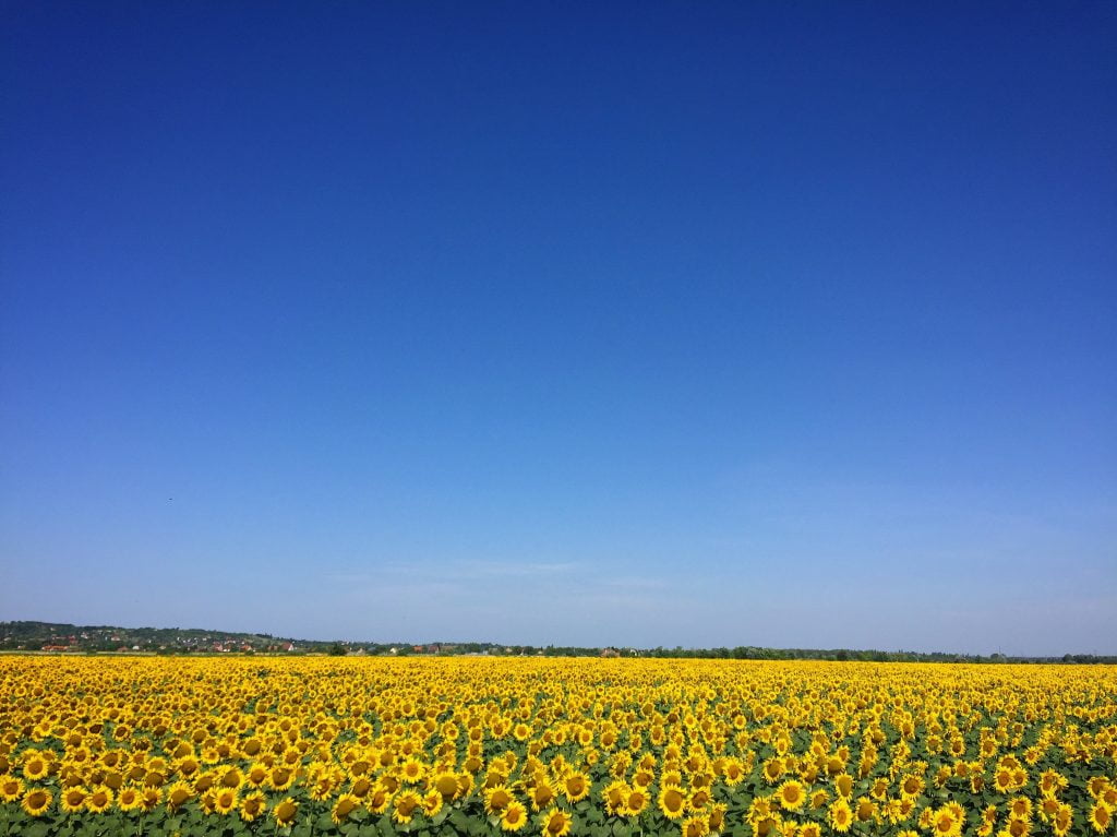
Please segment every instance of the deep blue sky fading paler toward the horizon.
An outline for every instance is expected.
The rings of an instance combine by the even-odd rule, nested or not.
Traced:
[[[0,618],[1117,653],[1117,4],[0,38]]]

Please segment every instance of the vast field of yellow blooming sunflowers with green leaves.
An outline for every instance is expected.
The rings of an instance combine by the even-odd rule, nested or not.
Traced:
[[[0,657],[0,835],[1111,834],[1117,668]]]

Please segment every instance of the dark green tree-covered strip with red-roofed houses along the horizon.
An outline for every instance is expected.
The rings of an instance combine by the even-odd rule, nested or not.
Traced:
[[[619,648],[544,647],[498,643],[369,643],[322,641],[276,637],[270,634],[240,634],[202,628],[122,628],[107,625],[0,621],[0,651],[117,653],[117,654],[334,654],[334,655],[486,655],[547,657],[662,657],[714,659],[823,659],[878,663],[1105,663],[1117,656],[1066,654],[1062,657],[1006,657],[993,654],[946,654],[934,651],[881,651],[849,648]]]

